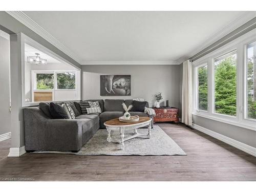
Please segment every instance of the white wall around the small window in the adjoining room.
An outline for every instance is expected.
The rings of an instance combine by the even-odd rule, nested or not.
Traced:
[[[32,70],[74,70],[76,68],[63,63],[47,63],[47,65],[33,65],[32,63],[25,63],[25,95],[26,99],[31,101],[31,71]],[[77,75],[77,82],[80,82],[80,75]],[[80,86],[80,85],[79,85]],[[78,86],[79,93],[80,87]],[[79,94],[78,93],[78,94]],[[76,91],[56,91],[55,100],[73,100],[76,97]]]

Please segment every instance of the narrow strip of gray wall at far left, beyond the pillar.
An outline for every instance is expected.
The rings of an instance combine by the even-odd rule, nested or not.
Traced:
[[[0,135],[11,132],[10,41],[0,36]]]

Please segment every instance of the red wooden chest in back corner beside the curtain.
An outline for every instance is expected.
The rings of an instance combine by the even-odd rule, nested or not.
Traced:
[[[179,109],[178,108],[153,108],[156,112],[154,122],[175,121],[179,122]]]

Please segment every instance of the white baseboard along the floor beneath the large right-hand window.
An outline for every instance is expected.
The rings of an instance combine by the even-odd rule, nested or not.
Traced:
[[[211,131],[211,130],[208,130],[202,126],[199,126],[197,124],[192,124],[192,127],[195,129],[195,130],[198,130],[200,132],[203,132],[211,137],[214,137],[216,139],[219,139],[229,145],[232,145],[233,147],[236,147],[238,148],[239,150],[242,150],[254,157],[256,157],[256,148],[255,147],[252,147],[250,145],[247,145],[245,143],[242,143],[240,141],[237,141],[237,140],[234,140],[234,139],[231,139],[230,137],[227,137],[225,135],[222,135],[222,134],[219,134],[217,132],[214,132],[214,131]]]

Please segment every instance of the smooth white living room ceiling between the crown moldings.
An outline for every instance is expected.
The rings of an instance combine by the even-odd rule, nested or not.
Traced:
[[[200,51],[245,11],[24,11],[81,64],[177,61]],[[157,64],[157,62],[156,62]]]

